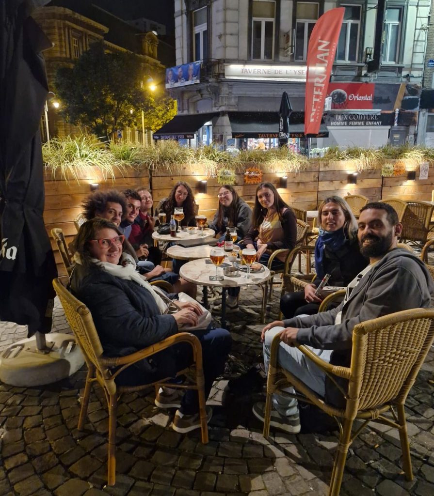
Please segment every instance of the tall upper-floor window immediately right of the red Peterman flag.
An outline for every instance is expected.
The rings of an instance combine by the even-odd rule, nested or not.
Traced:
[[[336,60],[355,62],[359,53],[360,23],[362,17],[361,5],[342,5],[345,7],[344,22],[339,35]]]

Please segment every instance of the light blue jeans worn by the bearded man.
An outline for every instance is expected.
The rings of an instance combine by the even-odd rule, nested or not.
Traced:
[[[284,327],[273,327],[265,333],[264,365],[267,373],[268,366],[270,364],[271,343],[274,336],[279,334],[282,329],[284,329]],[[311,347],[309,348],[313,351],[313,353],[315,353],[315,355],[318,355],[325,362],[330,363],[330,357],[333,350],[318,350]],[[279,346],[278,364],[296,375],[313,391],[323,397],[325,396],[326,374],[305,355],[303,355],[298,348],[281,343]],[[292,386],[285,390],[291,393],[294,392],[294,388]],[[273,394],[273,408],[281,415],[290,416],[298,413],[297,400],[295,398],[282,396],[280,394]]]

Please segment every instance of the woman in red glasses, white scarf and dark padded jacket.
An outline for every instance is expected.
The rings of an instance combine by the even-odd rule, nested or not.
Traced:
[[[118,227],[95,218],[85,222],[74,240],[74,266],[70,290],[90,310],[99,339],[108,357],[122,357],[195,326],[203,313],[197,302],[176,302],[176,313],[165,313],[166,298],[137,273],[134,259],[124,252],[125,237]],[[190,329],[202,345],[207,398],[215,378],[224,371],[231,338],[226,329]],[[193,361],[187,343],[167,348],[121,372],[119,385],[136,386],[174,377]],[[198,394],[194,390],[160,388],[155,399],[160,408],[176,407],[173,429],[188,433],[200,428]],[[207,407],[208,420],[211,407]]]

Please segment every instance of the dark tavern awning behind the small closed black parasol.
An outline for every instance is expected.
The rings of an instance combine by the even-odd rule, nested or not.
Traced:
[[[278,112],[228,112],[232,138],[279,138]],[[321,125],[317,137],[329,135]],[[304,112],[292,112],[289,117],[289,138],[304,138]]]

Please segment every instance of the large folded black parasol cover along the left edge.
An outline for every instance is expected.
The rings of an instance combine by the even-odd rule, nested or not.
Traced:
[[[51,43],[31,10],[45,0],[0,2],[0,319],[51,330],[57,276],[44,226],[39,123],[48,84],[41,52]]]

